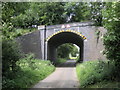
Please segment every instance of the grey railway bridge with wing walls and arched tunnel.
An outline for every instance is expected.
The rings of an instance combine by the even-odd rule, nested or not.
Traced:
[[[104,60],[102,37],[103,27],[92,22],[68,23],[51,26],[38,26],[38,30],[17,38],[24,53],[34,53],[36,58],[57,60],[57,47],[73,43],[80,48],[80,60]]]

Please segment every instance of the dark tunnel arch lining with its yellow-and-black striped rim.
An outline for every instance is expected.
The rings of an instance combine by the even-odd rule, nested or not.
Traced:
[[[83,61],[84,54],[84,40],[86,39],[80,33],[72,32],[70,30],[59,31],[47,39],[47,59],[55,62],[57,59],[57,47],[65,43],[73,43],[80,48],[80,61]]]

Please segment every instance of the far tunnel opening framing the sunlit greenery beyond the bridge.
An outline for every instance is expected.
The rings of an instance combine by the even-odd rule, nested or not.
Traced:
[[[64,43],[57,47],[57,60],[77,60],[80,48],[73,43]]]

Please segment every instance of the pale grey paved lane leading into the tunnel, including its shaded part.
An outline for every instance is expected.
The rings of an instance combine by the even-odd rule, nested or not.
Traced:
[[[73,66],[75,66],[75,61],[68,60],[33,88],[77,88],[79,81],[76,75],[76,68]]]

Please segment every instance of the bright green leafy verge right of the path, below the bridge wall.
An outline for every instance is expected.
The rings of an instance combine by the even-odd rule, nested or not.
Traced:
[[[86,87],[103,80],[115,80],[115,70],[115,62],[113,61],[87,61],[76,67],[80,87]]]

